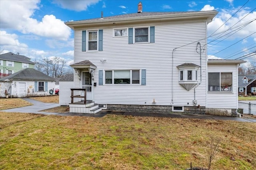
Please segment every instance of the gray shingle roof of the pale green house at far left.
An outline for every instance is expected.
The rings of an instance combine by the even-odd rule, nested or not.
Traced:
[[[35,64],[34,62],[30,61],[30,58],[24,56],[24,55],[17,55],[12,52],[5,53],[0,55],[1,60],[8,60],[8,61],[17,61],[21,63],[30,63]]]

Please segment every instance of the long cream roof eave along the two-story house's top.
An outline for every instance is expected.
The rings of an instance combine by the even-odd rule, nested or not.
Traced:
[[[69,21],[65,24],[68,25],[71,29],[74,27],[81,27],[86,25],[112,25],[113,22],[118,23],[134,23],[143,21],[167,21],[167,20],[186,20],[186,19],[206,19],[207,23],[212,21],[218,14],[217,11],[205,11],[205,12],[190,12],[190,13],[175,13],[175,14],[166,14],[166,15],[156,15],[156,16],[139,16],[139,17],[129,17],[129,18],[114,18],[114,19],[98,19],[98,20],[81,20],[81,21]],[[159,20],[160,19],[160,20]]]

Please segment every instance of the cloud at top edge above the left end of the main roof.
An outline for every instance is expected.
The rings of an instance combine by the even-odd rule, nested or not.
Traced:
[[[97,4],[99,0],[54,0],[53,2],[61,8],[79,12],[86,11],[89,6]]]

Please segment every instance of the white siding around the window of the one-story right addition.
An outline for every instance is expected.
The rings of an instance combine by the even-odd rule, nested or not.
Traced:
[[[236,109],[237,107],[237,74],[236,64],[208,64],[208,72],[232,72],[232,92],[208,92],[207,108]],[[208,86],[207,86],[208,87]]]

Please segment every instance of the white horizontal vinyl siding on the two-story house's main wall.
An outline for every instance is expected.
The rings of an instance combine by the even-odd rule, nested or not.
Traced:
[[[97,66],[94,80],[98,84],[99,70],[142,70],[146,69],[146,84],[125,86],[97,86],[94,89],[94,101],[100,104],[143,104],[171,106],[172,91],[174,106],[193,106],[194,89],[187,91],[180,84],[179,71],[176,66],[190,62],[200,66],[200,55],[196,53],[196,45],[200,39],[206,44],[206,22],[170,23],[155,26],[155,43],[128,44],[128,36],[113,37],[113,28],[103,29],[104,51],[97,53],[82,52],[82,30],[74,31],[74,63],[88,59]],[[126,25],[141,27],[141,25]],[[98,29],[98,28],[90,28]],[[190,45],[186,45],[192,43]],[[184,47],[181,47],[186,45]],[[172,49],[174,63],[172,73]],[[100,60],[106,59],[105,63]],[[202,53],[202,82],[196,88],[196,100],[200,106],[206,106],[206,52]],[[200,72],[198,72],[200,76]],[[173,77],[173,88],[172,88]],[[105,80],[104,80],[105,81]],[[142,82],[141,82],[142,83]],[[79,88],[80,80],[75,74],[75,88]],[[114,95],[113,95],[114,94]],[[136,99],[136,100],[135,100]],[[188,105],[189,103],[189,105]]]

